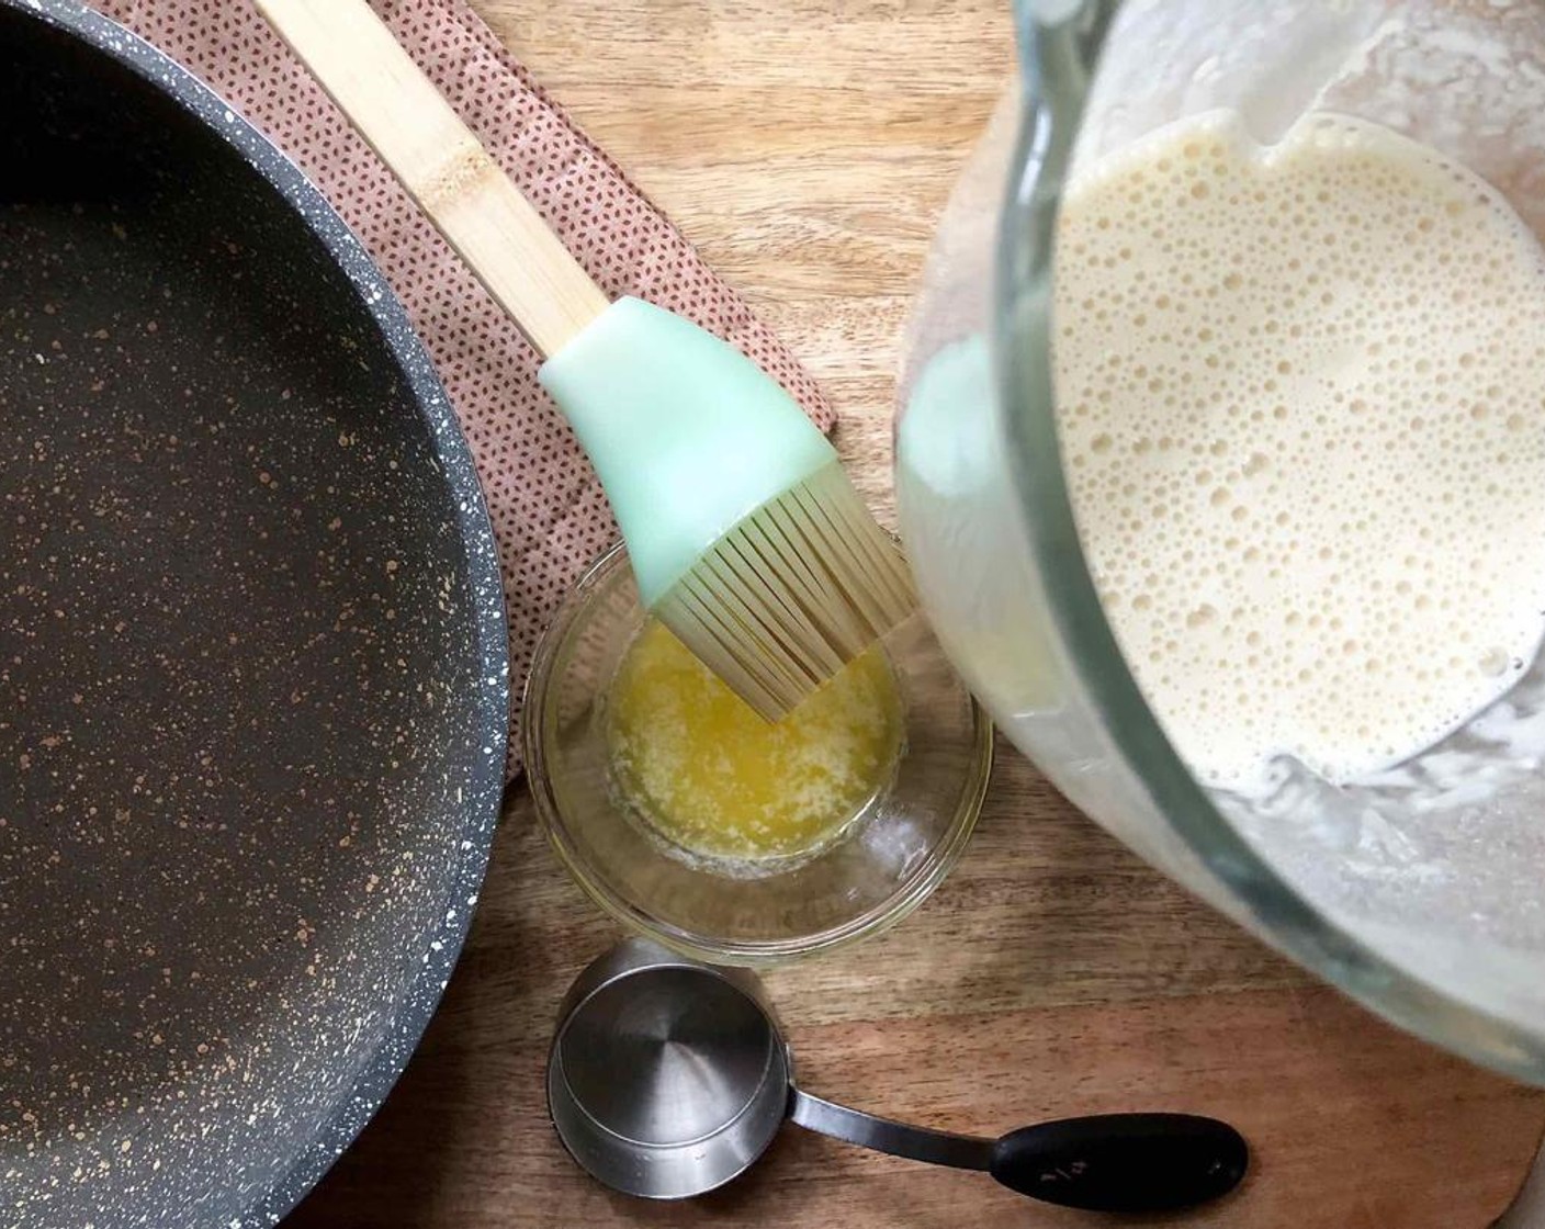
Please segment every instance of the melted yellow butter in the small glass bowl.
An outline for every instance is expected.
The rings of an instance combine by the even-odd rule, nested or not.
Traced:
[[[878,646],[769,725],[654,620],[607,706],[613,778],[633,809],[672,844],[735,861],[827,844],[890,781],[901,730]]]

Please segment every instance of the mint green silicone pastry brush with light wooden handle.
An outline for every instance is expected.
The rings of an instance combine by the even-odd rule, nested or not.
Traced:
[[[545,360],[644,606],[769,720],[901,623],[912,578],[783,388],[607,301],[365,0],[256,0]]]

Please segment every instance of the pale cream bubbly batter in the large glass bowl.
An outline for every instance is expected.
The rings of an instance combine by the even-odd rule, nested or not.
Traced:
[[[1063,206],[1058,427],[1095,583],[1180,754],[1248,787],[1409,757],[1545,623],[1545,255],[1443,155],[1227,113]]]

